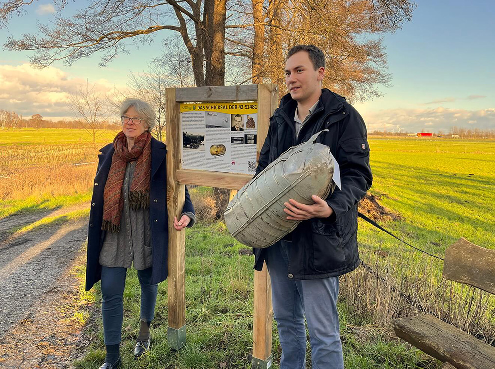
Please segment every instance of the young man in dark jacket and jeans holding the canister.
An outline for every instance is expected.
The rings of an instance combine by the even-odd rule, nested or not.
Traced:
[[[283,240],[255,249],[255,269],[266,261],[274,318],[282,347],[280,369],[305,369],[306,317],[313,369],[343,369],[337,315],[339,276],[359,265],[357,203],[372,182],[366,127],[345,98],[322,89],[325,56],[314,45],[289,50],[285,79],[289,94],[270,118],[256,174],[289,147],[318,138],[340,165],[341,187],[314,204],[285,203],[287,219],[302,220]]]

